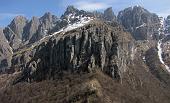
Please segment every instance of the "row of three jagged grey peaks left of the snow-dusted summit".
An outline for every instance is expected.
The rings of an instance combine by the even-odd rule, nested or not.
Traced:
[[[45,13],[41,18],[33,17],[30,21],[23,16],[17,16],[4,29],[4,34],[10,46],[17,50],[48,35],[57,21],[58,18],[51,13]]]

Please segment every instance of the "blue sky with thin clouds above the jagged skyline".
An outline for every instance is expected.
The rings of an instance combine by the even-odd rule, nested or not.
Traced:
[[[170,0],[0,0],[0,27],[7,26],[17,15],[30,19],[51,12],[61,16],[68,5],[87,11],[103,11],[112,7],[115,14],[127,7],[140,5],[159,16],[170,15]]]

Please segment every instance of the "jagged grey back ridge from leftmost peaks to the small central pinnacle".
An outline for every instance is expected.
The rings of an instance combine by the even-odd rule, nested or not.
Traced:
[[[17,50],[24,45],[37,42],[44,36],[50,35],[69,24],[78,22],[84,17],[94,17],[106,21],[115,19],[112,8],[108,8],[104,13],[91,13],[78,10],[73,6],[68,6],[65,13],[60,18],[52,15],[50,12],[45,13],[40,18],[33,17],[30,21],[23,16],[17,16],[3,31],[10,46],[14,50]]]

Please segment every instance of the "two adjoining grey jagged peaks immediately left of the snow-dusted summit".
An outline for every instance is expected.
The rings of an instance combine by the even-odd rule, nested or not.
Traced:
[[[49,32],[54,28],[58,20],[57,16],[49,12],[45,13],[41,18],[34,17],[30,21],[30,26],[28,26],[30,28],[28,29],[30,32],[29,43],[34,43],[44,36],[49,35]]]

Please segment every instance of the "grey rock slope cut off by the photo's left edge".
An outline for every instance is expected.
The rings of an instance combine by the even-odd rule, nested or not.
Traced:
[[[0,72],[5,72],[11,66],[12,48],[9,46],[7,39],[0,29]]]

